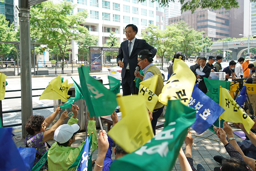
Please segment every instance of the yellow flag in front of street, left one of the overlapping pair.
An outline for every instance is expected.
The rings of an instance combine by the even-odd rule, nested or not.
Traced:
[[[61,86],[60,74],[56,78],[50,81],[49,85],[45,88],[44,92],[41,94],[39,100],[49,99],[58,100],[66,102],[68,99],[65,97]]]

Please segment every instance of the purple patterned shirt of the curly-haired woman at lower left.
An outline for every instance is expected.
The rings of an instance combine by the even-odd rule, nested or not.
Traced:
[[[37,149],[36,153],[39,154],[40,156],[43,156],[49,149],[47,144],[43,143],[43,138],[44,138],[44,132],[38,133],[36,135],[27,134],[27,136],[25,138],[24,147],[36,148]],[[39,160],[40,160],[40,158],[35,157],[35,162],[34,162],[33,166],[35,166]],[[45,162],[45,164],[41,167],[41,169],[39,171],[43,171],[45,169],[48,170],[47,161]]]

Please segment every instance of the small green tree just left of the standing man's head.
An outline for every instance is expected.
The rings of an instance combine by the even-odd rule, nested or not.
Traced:
[[[119,41],[119,38],[116,37],[115,35],[115,32],[114,31],[111,31],[108,39],[106,40],[106,44],[104,44],[105,47],[110,47],[112,45],[112,42],[114,42],[114,45],[113,47],[120,47],[120,41]],[[106,56],[117,56],[118,55],[118,51],[107,51],[105,52]],[[111,58],[109,58],[110,60]]]

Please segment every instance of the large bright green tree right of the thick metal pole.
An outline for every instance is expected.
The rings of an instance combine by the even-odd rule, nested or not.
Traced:
[[[88,30],[81,26],[87,18],[87,11],[83,10],[72,15],[74,5],[63,1],[54,4],[46,1],[34,5],[30,9],[30,29],[37,35],[37,42],[47,43],[53,49],[57,46],[62,57],[62,73],[64,73],[64,57],[71,40],[78,40],[80,34],[88,34]]]

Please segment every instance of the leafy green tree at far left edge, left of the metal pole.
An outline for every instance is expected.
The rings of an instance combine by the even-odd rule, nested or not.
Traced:
[[[8,27],[9,21],[6,17],[0,14],[0,40],[1,41],[16,41],[16,32],[14,31],[14,22]],[[5,54],[9,54],[15,44],[0,43],[0,57],[4,61]]]

